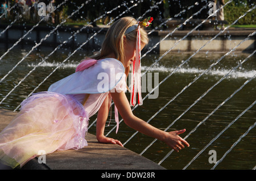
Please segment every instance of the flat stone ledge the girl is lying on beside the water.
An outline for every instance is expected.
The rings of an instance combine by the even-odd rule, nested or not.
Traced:
[[[15,112],[0,110],[0,131],[16,115]],[[96,136],[87,134],[88,146],[80,150],[55,151],[46,155],[46,164],[39,164],[32,159],[23,169],[52,170],[164,170],[155,162],[150,161],[131,150],[118,145],[100,144]]]

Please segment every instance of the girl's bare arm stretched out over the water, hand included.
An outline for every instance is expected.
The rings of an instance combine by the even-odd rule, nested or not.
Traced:
[[[170,146],[170,148],[177,152],[180,149],[185,148],[185,146],[189,146],[188,142],[179,136],[179,134],[185,132],[185,129],[180,131],[164,132],[158,128],[155,128],[133,115],[129,101],[127,100],[124,92],[114,91],[111,92],[111,96],[114,100],[115,106],[117,106],[118,112],[129,127],[146,134],[147,136],[151,136],[165,142],[168,146]]]

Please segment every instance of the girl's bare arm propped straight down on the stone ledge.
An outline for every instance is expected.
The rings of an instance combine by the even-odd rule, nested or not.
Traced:
[[[110,94],[106,96],[104,102],[101,104],[101,107],[98,110],[97,123],[96,123],[96,137],[98,142],[118,144],[120,146],[123,146],[120,141],[104,136],[105,124],[109,114],[109,96]]]

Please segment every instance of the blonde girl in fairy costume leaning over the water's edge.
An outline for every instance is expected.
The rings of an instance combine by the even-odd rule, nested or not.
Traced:
[[[179,136],[185,129],[164,132],[134,116],[125,95],[132,64],[131,105],[135,104],[137,92],[142,104],[140,50],[148,43],[148,37],[141,26],[147,26],[151,20],[139,24],[130,17],[117,20],[106,33],[101,51],[82,61],[76,73],[53,83],[47,92],[24,100],[18,115],[0,133],[0,161],[14,168],[23,166],[42,150],[52,153],[83,148],[87,145],[89,117],[96,112],[97,140],[123,146],[120,141],[104,136],[112,99],[117,125],[119,112],[129,127],[166,142],[176,151],[189,146]]]

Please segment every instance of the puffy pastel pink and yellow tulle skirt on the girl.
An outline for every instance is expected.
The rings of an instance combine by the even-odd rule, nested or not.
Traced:
[[[32,95],[0,133],[0,160],[14,168],[42,153],[83,148],[87,145],[88,119],[84,107],[72,95]]]

